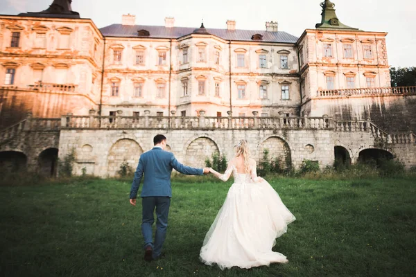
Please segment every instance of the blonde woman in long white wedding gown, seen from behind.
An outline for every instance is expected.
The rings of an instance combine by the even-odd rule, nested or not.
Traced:
[[[273,252],[272,247],[295,216],[272,186],[257,177],[256,161],[250,159],[247,141],[241,140],[236,145],[236,157],[229,161],[223,175],[210,171],[223,181],[232,173],[234,184],[205,236],[200,260],[207,265],[215,263],[220,269],[288,262],[286,256]]]

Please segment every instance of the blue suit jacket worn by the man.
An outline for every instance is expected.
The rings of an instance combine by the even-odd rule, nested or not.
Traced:
[[[130,199],[137,197],[141,178],[144,175],[144,184],[141,189],[141,197],[167,196],[172,197],[171,173],[172,169],[185,175],[203,175],[202,168],[191,168],[184,166],[177,161],[173,153],[155,147],[152,150],[141,154],[139,165],[135,172]]]

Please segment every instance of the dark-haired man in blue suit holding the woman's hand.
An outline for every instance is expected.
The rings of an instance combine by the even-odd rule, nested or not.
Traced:
[[[130,190],[130,204],[136,206],[137,190],[144,175],[141,189],[142,220],[141,232],[144,237],[144,260],[157,260],[162,254],[162,245],[166,238],[168,213],[171,204],[172,169],[186,175],[209,173],[209,168],[191,168],[182,165],[171,152],[166,152],[166,136],[158,134],[153,138],[155,147],[141,154]],[[156,208],[156,235],[153,244],[152,225],[155,222],[153,213]]]

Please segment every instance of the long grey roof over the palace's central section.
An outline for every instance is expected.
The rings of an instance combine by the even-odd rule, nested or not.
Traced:
[[[171,27],[165,26],[148,26],[148,25],[122,25],[112,24],[104,28],[100,28],[101,33],[105,37],[139,37],[138,30],[147,30],[151,38],[168,38],[177,39],[184,35],[195,33],[199,28],[189,27]],[[207,28],[207,33],[216,35],[225,40],[252,42],[252,35],[263,35],[261,42],[281,42],[281,43],[296,43],[297,37],[286,32],[270,32],[266,30],[227,30],[227,29],[211,29]]]

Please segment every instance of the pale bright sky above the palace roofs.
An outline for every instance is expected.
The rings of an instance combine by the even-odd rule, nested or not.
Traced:
[[[279,30],[300,37],[306,28],[320,22],[323,0],[73,0],[72,10],[90,18],[98,28],[121,23],[121,16],[136,15],[136,24],[164,26],[165,17],[175,17],[175,26],[226,28],[227,19],[236,28],[266,30],[266,21],[277,21]],[[388,33],[390,66],[416,66],[415,0],[332,0],[343,24],[367,31]],[[46,10],[53,0],[0,0],[0,14]]]

